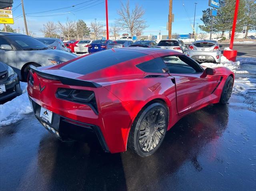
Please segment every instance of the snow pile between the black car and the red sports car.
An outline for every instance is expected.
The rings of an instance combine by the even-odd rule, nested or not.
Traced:
[[[27,83],[20,82],[22,95],[0,105],[0,127],[16,123],[24,114],[32,112],[27,94]]]

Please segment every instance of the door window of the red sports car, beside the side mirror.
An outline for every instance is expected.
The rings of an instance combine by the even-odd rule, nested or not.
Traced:
[[[162,57],[164,63],[168,67],[170,73],[180,73],[180,74],[193,74],[197,72],[202,72],[195,63],[192,63],[190,59],[184,56],[166,56]]]

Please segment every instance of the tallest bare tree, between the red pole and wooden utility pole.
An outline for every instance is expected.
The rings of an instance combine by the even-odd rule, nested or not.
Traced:
[[[136,4],[135,8],[130,10],[129,1],[126,5],[121,2],[121,9],[117,13],[120,18],[116,20],[116,23],[120,26],[121,30],[129,30],[132,37],[136,32],[142,32],[148,27],[143,19],[145,11],[142,9],[142,6]]]

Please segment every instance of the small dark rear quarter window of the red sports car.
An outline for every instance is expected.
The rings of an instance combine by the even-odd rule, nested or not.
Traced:
[[[150,61],[146,61],[144,63],[140,63],[136,65],[139,69],[144,72],[149,73],[164,73],[163,69],[166,68],[163,60],[161,58],[155,58]]]

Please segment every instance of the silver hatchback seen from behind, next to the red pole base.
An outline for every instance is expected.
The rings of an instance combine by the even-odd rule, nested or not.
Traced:
[[[197,40],[190,45],[186,55],[198,63],[220,63],[220,47],[222,45],[214,40]]]

